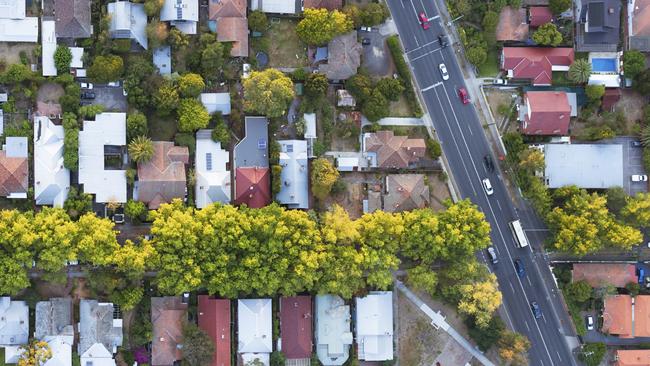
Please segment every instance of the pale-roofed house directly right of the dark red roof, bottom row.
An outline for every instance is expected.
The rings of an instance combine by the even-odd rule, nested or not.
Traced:
[[[350,356],[350,306],[336,295],[316,295],[316,354],[323,366],[340,366]]]

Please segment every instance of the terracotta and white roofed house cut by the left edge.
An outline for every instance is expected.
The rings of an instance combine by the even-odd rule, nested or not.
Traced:
[[[27,198],[29,163],[27,137],[7,136],[0,150],[0,196]]]

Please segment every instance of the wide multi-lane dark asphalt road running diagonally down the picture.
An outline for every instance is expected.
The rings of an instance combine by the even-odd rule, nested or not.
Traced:
[[[531,246],[517,248],[508,223],[519,218],[519,213],[508,197],[498,169],[490,173],[483,163],[483,157],[492,153],[474,106],[463,105],[458,97],[458,88],[465,86],[463,74],[453,54],[454,47],[441,49],[437,40],[445,30],[436,5],[424,0],[388,0],[388,5],[459,193],[480,207],[492,227],[492,242],[500,261],[496,266],[490,265],[490,269],[496,273],[503,294],[504,320],[531,341],[531,365],[576,364],[565,341],[565,335],[570,334],[563,332],[569,329],[568,317],[540,251],[545,235],[541,220],[533,212],[522,212],[522,224]],[[417,20],[421,11],[430,20],[428,30]],[[446,65],[449,80],[442,80],[440,63]],[[477,96],[470,95],[473,97]],[[483,178],[492,183],[491,196],[482,187]],[[523,278],[515,273],[515,258],[524,264]],[[533,301],[541,307],[540,319],[535,319],[530,309]]]

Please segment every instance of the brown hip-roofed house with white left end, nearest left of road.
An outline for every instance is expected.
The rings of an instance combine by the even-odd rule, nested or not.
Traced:
[[[364,133],[364,156],[373,168],[408,168],[426,153],[424,139],[395,136],[393,131]]]

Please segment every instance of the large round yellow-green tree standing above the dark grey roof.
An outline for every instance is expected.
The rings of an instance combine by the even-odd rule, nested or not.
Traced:
[[[253,71],[244,80],[244,108],[249,112],[280,117],[293,98],[293,82],[276,69]]]

